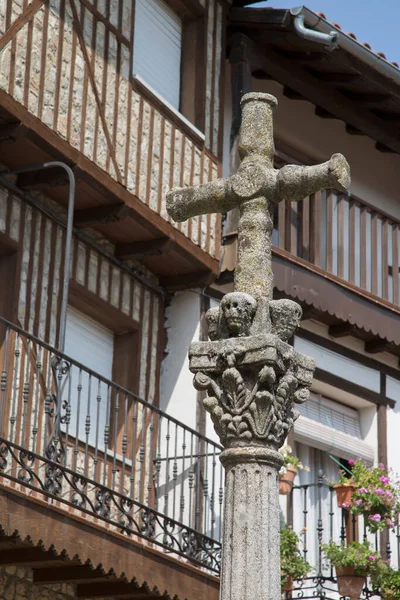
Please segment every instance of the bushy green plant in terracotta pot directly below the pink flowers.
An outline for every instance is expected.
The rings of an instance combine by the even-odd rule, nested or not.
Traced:
[[[379,555],[371,550],[367,541],[344,546],[331,540],[322,546],[322,550],[336,569],[339,594],[359,600],[366,578],[374,577],[380,570]]]

